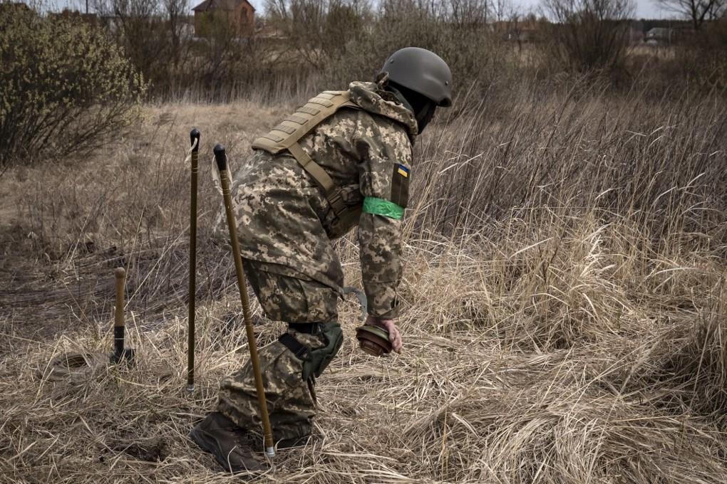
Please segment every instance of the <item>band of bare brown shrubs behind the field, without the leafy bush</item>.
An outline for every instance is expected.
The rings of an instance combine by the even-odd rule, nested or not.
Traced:
[[[555,75],[643,70],[629,65],[633,0],[541,0],[523,15],[510,0],[267,0],[257,28],[241,36],[224,12],[196,36],[189,0],[91,0],[113,18],[106,30],[156,97],[265,91],[273,86],[371,78],[406,45],[438,52],[458,78],[492,83],[502,73]],[[727,54],[727,0],[654,0],[694,27],[679,62],[698,71]],[[113,28],[110,28],[112,27]],[[525,41],[537,39],[536,46]],[[523,51],[524,54],[523,54]],[[661,66],[670,69],[678,66]],[[678,69],[676,69],[678,70]],[[686,70],[685,70],[686,72]]]

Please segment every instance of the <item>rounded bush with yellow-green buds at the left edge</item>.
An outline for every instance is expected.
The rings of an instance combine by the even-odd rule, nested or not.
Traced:
[[[0,165],[82,154],[138,113],[146,83],[92,25],[0,12]]]

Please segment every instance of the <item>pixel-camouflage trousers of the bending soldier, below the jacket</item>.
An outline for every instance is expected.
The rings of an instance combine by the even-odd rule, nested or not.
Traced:
[[[248,276],[265,316],[289,323],[331,322],[337,319],[335,290],[292,269],[245,261]],[[281,274],[283,273],[283,274]],[[299,343],[310,349],[323,348],[324,338],[288,329]],[[273,438],[295,440],[310,435],[316,415],[313,378],[303,381],[303,361],[283,343],[276,341],[258,351]],[[252,364],[247,361],[220,385],[217,411],[251,432],[262,434]]]

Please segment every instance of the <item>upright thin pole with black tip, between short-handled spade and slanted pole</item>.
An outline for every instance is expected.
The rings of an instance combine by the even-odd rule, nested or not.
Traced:
[[[190,131],[192,145],[192,184],[189,205],[189,327],[187,331],[187,391],[194,391],[194,315],[197,297],[197,171],[199,162],[199,130]]]

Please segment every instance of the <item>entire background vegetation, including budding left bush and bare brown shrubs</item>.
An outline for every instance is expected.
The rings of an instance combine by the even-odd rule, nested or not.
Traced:
[[[643,82],[657,96],[727,88],[727,0],[659,0],[694,25],[666,56],[633,51],[632,0],[542,0],[540,17],[508,0],[268,0],[244,35],[212,12],[203,36],[188,0],[89,1],[95,15],[0,2],[0,163],[96,146],[142,100],[281,102],[344,89],[402,46],[438,52],[475,98],[583,78]]]

